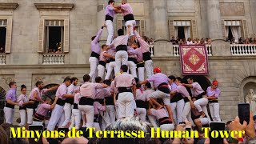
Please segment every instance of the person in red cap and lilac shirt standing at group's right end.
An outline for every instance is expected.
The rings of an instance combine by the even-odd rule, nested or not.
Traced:
[[[212,86],[207,88],[206,95],[203,96],[203,98],[207,98],[209,100],[210,115],[214,122],[221,122],[221,118],[219,117],[219,94],[221,94],[221,90],[218,88],[218,81],[214,81]]]

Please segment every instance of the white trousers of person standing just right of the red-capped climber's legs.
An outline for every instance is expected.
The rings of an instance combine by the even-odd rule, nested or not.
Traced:
[[[182,121],[182,111],[184,109],[185,102],[183,99],[179,100],[178,102],[170,103],[171,110],[173,112],[174,122],[178,125],[179,122]]]

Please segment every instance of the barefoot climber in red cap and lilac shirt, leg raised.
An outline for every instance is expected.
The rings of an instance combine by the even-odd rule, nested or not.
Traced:
[[[162,101],[166,106],[166,110],[168,111],[168,114],[173,121],[174,118],[170,108],[170,88],[168,85],[170,79],[166,76],[166,74],[161,73],[160,68],[155,67],[154,75],[152,75],[150,78],[147,78],[145,81],[140,82],[140,84],[142,85],[147,82],[153,82],[154,88],[157,88],[157,90],[154,93],[147,95],[146,100],[150,103],[150,106],[153,106],[154,103],[155,106],[158,106],[157,109],[161,109],[162,105],[156,102],[154,99],[162,98]]]

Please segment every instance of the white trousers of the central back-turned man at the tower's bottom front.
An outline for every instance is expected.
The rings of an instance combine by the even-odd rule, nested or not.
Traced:
[[[119,118],[132,117],[134,115],[134,94],[129,92],[119,93],[118,102]]]

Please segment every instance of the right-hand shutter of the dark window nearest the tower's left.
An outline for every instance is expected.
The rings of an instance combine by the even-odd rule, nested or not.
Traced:
[[[68,53],[70,50],[70,20],[64,20],[64,53]]]

